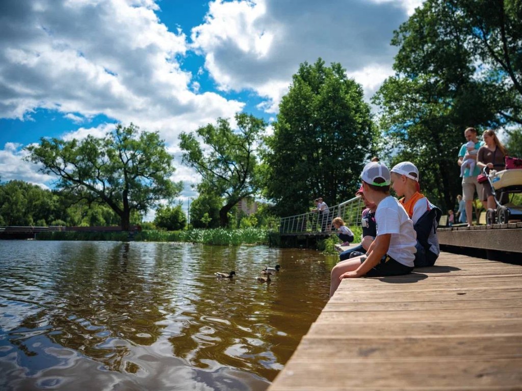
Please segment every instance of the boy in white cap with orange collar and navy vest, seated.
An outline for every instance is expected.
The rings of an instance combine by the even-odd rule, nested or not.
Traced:
[[[441,252],[437,226],[442,212],[420,192],[419,170],[413,163],[396,164],[392,168],[392,184],[417,233],[415,266],[433,266]]]

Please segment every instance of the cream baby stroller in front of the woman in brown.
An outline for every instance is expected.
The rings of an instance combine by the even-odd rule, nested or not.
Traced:
[[[522,159],[506,157],[506,168],[498,172],[493,169],[489,170],[487,167],[483,170],[484,175],[488,178],[491,194],[496,204],[496,210],[488,209],[486,212],[486,224],[488,225],[496,222],[506,224],[510,219],[522,219],[522,205],[512,203],[513,194],[522,193]],[[512,194],[511,199],[509,194]]]

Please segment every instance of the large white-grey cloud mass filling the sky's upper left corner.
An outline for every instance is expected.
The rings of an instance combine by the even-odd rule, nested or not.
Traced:
[[[152,0],[7,0],[0,9],[0,117],[48,108],[168,134],[243,107],[191,88],[176,60],[186,36],[161,23]]]

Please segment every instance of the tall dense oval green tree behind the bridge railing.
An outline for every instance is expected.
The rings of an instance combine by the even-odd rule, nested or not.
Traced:
[[[263,175],[276,213],[303,213],[317,197],[330,205],[353,197],[375,132],[361,85],[340,64],[301,64],[273,126]]]

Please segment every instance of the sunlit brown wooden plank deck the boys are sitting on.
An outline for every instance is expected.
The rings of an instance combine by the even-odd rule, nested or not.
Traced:
[[[345,279],[269,391],[522,390],[522,266]]]

